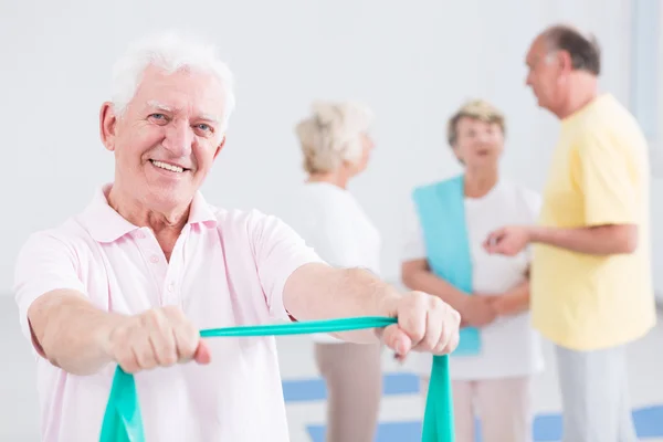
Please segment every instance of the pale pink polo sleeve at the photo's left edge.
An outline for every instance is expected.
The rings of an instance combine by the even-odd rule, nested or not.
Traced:
[[[38,297],[54,290],[85,293],[77,269],[74,248],[53,233],[34,233],[23,244],[14,269],[13,293],[27,338],[32,338],[28,309]]]

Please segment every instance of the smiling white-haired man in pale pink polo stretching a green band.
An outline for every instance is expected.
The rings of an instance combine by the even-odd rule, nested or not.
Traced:
[[[338,336],[402,356],[453,351],[460,316],[439,298],[328,266],[280,220],[204,201],[234,102],[212,51],[150,39],[114,80],[99,115],[114,182],[33,234],[17,264],[43,441],[98,440],[115,364],[136,373],[148,441],[287,441],[274,338],[204,341],[200,328],[392,316],[381,333]]]

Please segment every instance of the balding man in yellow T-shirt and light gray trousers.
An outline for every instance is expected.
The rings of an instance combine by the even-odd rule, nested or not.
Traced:
[[[527,85],[561,122],[538,225],[488,235],[491,253],[534,244],[533,325],[557,347],[564,441],[636,441],[625,345],[655,324],[649,159],[632,115],[598,93],[596,40],[562,25],[527,53]]]

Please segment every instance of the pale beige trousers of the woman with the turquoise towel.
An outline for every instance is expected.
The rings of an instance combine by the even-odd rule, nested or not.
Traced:
[[[430,378],[421,378],[428,393]],[[452,381],[455,442],[474,442],[476,418],[483,442],[532,441],[529,377]],[[424,396],[425,398],[425,396]]]

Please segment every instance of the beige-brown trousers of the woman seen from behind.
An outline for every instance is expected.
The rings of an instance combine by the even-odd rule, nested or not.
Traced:
[[[315,359],[327,383],[326,442],[372,442],[382,371],[380,345],[315,344]]]

